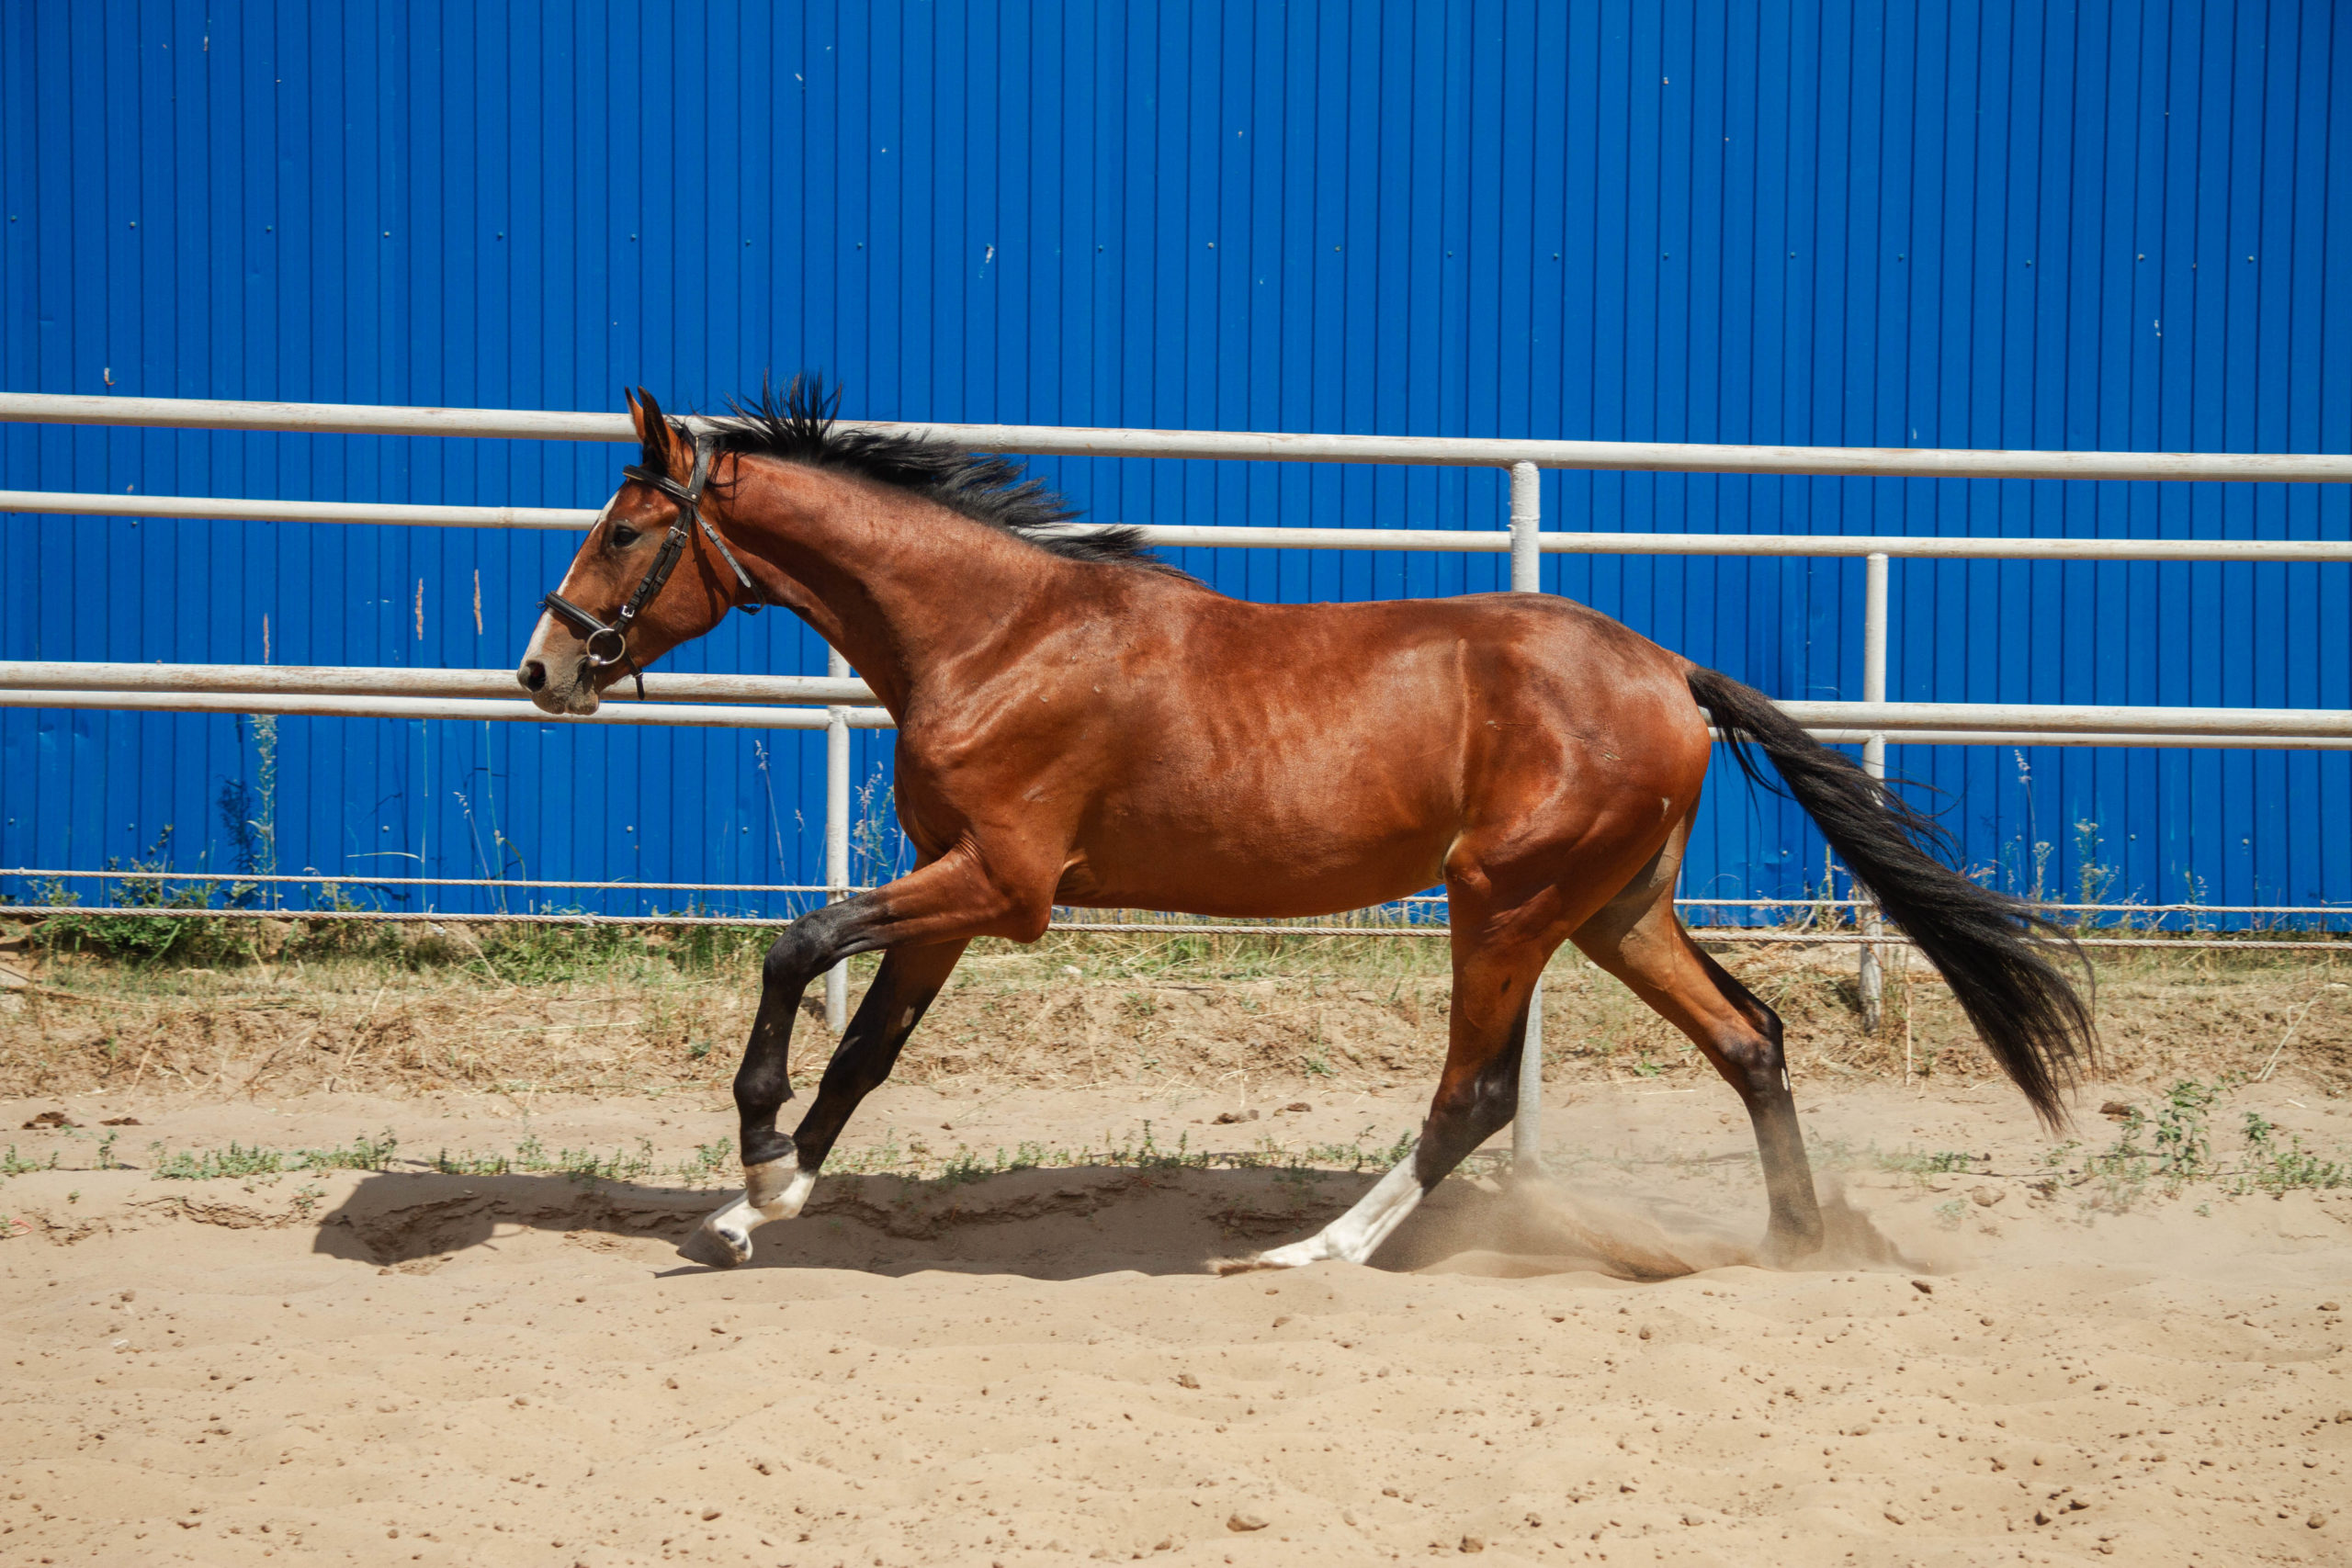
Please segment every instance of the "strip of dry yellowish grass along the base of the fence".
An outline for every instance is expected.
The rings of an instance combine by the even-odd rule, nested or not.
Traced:
[[[760,933],[449,926],[421,940],[278,943],[221,966],[0,943],[0,1093],[181,1086],[223,1095],[532,1086],[668,1091],[734,1072],[757,1001]],[[1729,945],[1726,945],[1729,947]],[[1886,1027],[1856,1011],[1851,947],[1731,947],[1788,1020],[1799,1077],[1973,1081],[1992,1072],[1950,992],[1893,966]],[[851,966],[851,994],[873,959]],[[2352,966],[2296,952],[2098,957],[2105,1070],[2122,1079],[2279,1070],[2352,1084]],[[1054,933],[976,943],[901,1074],[1040,1084],[1416,1081],[1446,1046],[1446,950],[1399,938]],[[800,1025],[800,1063],[830,1048]],[[1578,954],[1545,985],[1550,1072],[1682,1077],[1705,1063]]]

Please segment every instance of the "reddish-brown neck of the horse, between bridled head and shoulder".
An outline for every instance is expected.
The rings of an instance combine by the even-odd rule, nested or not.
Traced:
[[[729,520],[762,588],[894,712],[953,658],[1023,621],[1070,562],[910,491],[786,461],[741,465]]]

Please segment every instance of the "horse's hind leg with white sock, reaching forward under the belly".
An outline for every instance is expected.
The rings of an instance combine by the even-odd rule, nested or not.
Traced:
[[[1357,1199],[1355,1208],[1305,1241],[1218,1265],[1218,1272],[1296,1269],[1324,1260],[1369,1262],[1421,1199],[1517,1114],[1526,1001],[1550,957],[1550,947],[1536,943],[1470,947],[1456,936],[1446,1067],[1414,1152]]]

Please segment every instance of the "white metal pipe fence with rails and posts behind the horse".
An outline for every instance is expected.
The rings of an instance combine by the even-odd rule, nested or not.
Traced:
[[[405,409],[372,404],[216,402],[179,397],[87,397],[0,393],[0,421],[275,430],[341,435],[452,435],[513,440],[630,442],[623,414],[543,409]],[[1886,745],[2169,745],[2169,748],[2352,748],[2352,712],[2291,708],[2112,708],[2027,703],[1889,703],[1889,578],[1910,559],[2105,559],[2105,562],[2352,562],[2352,541],[2253,538],[1940,538],[1889,534],[1566,534],[1543,531],[1536,475],[1543,468],[1635,473],[1844,475],[1938,480],[2154,480],[2347,484],[2340,454],[2183,451],[1919,451],[1863,447],[1710,447],[1672,442],[1541,442],[1399,435],[1282,435],[1247,430],[1084,430],[1063,425],[868,425],[927,433],[971,451],[1033,456],[1216,458],[1270,463],[1421,463],[1510,473],[1503,529],[1263,529],[1145,527],[1167,548],[1508,552],[1517,590],[1541,588],[1543,555],[1780,555],[1863,557],[1863,701],[1783,703],[1823,741],[1860,743],[1884,776]],[[259,501],[214,496],[113,496],[0,489],[0,512],[80,517],[191,517],[273,522],[369,522],[407,527],[586,529],[583,508],[393,505]],[[816,703],[823,703],[818,708]],[[729,729],[823,729],[826,891],[849,891],[849,729],[889,726],[863,682],[840,656],[826,677],[668,675],[647,677],[644,703],[607,703],[588,719],[555,719],[532,708],[508,670],[372,670],[259,665],[0,663],[0,708],[111,708],[151,712],[278,712],[400,719],[522,719],[532,724],[691,724]],[[447,882],[454,886],[456,882]],[[2314,910],[2317,912],[2317,910]],[[1105,929],[1105,926],[1096,926]],[[1122,926],[1124,929],[1124,926]],[[1143,926],[1183,931],[1185,926]],[[1242,926],[1202,926],[1242,931]],[[1268,926],[1291,931],[1294,926]],[[1334,931],[1357,931],[1334,926]],[[1710,933],[1712,936],[1712,933]],[[1724,933],[1729,936],[1729,933]],[[1811,938],[1823,940],[1823,938]],[[1877,994],[1884,938],[1863,905],[1865,1006]],[[2133,943],[2136,938],[2103,938]],[[828,976],[828,1013],[840,1027],[842,978]],[[1534,1041],[1531,1041],[1534,1044]],[[1526,1053],[1541,1063],[1541,1046]],[[1526,1133],[1534,1095],[1526,1098]]]

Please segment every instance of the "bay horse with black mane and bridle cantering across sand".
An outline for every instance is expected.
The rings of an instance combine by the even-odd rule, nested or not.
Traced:
[[[522,656],[546,712],[600,696],[729,609],[781,604],[898,722],[917,865],[793,922],[734,1077],[741,1197],[703,1222],[729,1265],[800,1213],[978,936],[1037,940],[1054,905],[1312,917],[1444,882],[1446,1060],[1409,1159],[1322,1232],[1244,1267],[1364,1262],[1517,1105],[1536,978],[1562,943],[1691,1037],[1748,1107],[1766,1258],[1816,1251],[1820,1206],[1780,1018],[1675,917],[1710,719],[1771,759],[1851,875],[1950,983],[2051,1126],[2096,1048],[2032,910],[1929,853],[1922,818],[1769,698],[1552,595],[1251,604],[1157,562],[1000,456],[835,421],[795,378],[734,418],[626,397],[642,461],[597,515]],[[684,569],[680,569],[684,567]],[[642,693],[642,682],[640,682]],[[786,1135],[802,990],[882,952]]]

